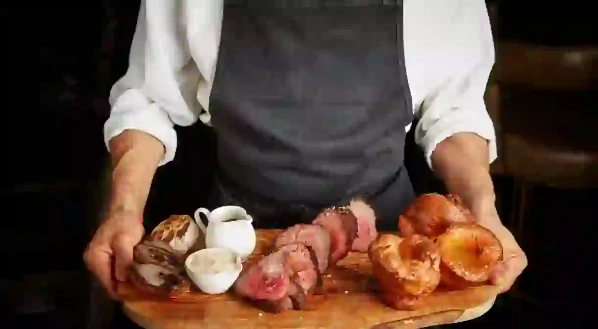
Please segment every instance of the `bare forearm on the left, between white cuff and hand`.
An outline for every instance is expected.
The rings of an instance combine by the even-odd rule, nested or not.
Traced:
[[[141,130],[125,130],[110,140],[112,184],[109,211],[143,215],[164,145]]]

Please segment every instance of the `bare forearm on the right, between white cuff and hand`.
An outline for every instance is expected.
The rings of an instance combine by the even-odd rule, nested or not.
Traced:
[[[483,224],[498,224],[486,139],[457,133],[437,145],[431,160],[449,193],[458,194],[478,220],[492,222]]]

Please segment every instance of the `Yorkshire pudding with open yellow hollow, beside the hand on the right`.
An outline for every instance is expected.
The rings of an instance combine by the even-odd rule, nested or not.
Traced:
[[[483,285],[502,261],[502,245],[492,231],[478,224],[453,224],[438,236],[440,275],[451,288]]]

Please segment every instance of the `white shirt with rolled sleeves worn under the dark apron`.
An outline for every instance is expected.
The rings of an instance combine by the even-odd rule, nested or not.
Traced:
[[[494,44],[483,0],[404,0],[403,39],[416,143],[428,164],[436,145],[457,132],[496,136],[484,104]],[[175,156],[175,124],[210,123],[209,95],[218,59],[222,0],[142,1],[129,69],[110,92],[109,139],[138,129]],[[406,128],[409,129],[410,126]]]

